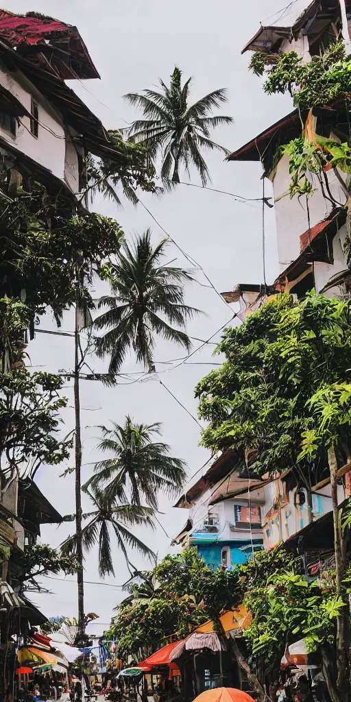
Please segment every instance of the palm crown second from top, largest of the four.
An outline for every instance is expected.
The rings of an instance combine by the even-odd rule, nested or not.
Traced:
[[[159,265],[165,246],[163,239],[153,249],[148,229],[131,248],[124,243],[118,263],[111,268],[112,295],[102,297],[98,304],[99,308],[110,309],[94,324],[96,329],[107,329],[96,339],[96,352],[99,357],[110,355],[112,376],[118,373],[131,348],[138,362],[154,371],[154,335],[190,350],[190,338],[179,327],[184,329],[186,320],[199,313],[184,304],[183,284],[192,277],[182,268]]]

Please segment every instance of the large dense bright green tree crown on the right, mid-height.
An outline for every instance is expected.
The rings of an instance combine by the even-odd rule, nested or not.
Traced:
[[[310,293],[278,295],[225,330],[227,360],[196,388],[201,443],[217,451],[258,449],[255,470],[300,463],[306,479],[326,467],[326,449],[347,444],[351,423],[350,307]]]

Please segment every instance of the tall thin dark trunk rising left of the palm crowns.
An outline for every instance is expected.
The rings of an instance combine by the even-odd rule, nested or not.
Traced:
[[[79,287],[77,287],[76,314],[74,325],[74,415],[75,415],[75,489],[76,489],[76,534],[78,583],[78,635],[84,634],[84,574],[83,544],[81,538],[81,409],[79,399]]]

